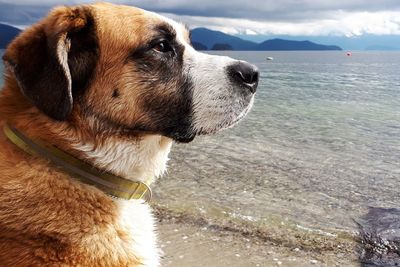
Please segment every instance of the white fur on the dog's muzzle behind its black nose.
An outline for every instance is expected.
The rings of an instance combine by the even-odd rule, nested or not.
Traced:
[[[241,95],[240,89],[229,81],[226,67],[235,61],[196,51],[190,51],[190,54],[192,56],[185,60],[185,70],[194,84],[194,131],[206,134],[232,126],[244,117],[253,98]]]

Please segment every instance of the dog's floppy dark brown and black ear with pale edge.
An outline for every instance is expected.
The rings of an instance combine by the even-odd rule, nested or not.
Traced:
[[[3,59],[39,110],[65,120],[73,107],[73,87],[84,87],[95,67],[96,43],[87,7],[59,7],[18,36]]]

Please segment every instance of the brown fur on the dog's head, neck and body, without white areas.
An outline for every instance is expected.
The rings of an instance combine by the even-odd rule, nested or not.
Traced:
[[[85,29],[88,16],[95,21],[98,51],[83,54],[85,49],[76,44],[84,42],[79,32]],[[6,51],[0,127],[7,121],[26,135],[87,161],[71,146],[71,140],[97,145],[109,139],[134,142],[155,132],[151,127],[148,131],[133,127],[156,125],[160,118],[155,120],[144,112],[149,108],[144,101],[151,99],[150,89],[138,82],[137,66],[127,63],[127,58],[151,39],[158,23],[157,17],[141,10],[108,4],[55,9]],[[70,55],[71,77],[54,61],[60,42],[60,49]],[[90,45],[93,40],[87,42]],[[37,70],[46,64],[51,69]],[[153,86],[151,95],[164,95],[168,103],[178,105],[169,96],[176,83]],[[48,90],[54,90],[49,98],[61,99],[58,106],[46,99]],[[72,90],[73,103],[63,100],[68,90]],[[123,130],[124,126],[132,131]],[[71,179],[49,162],[27,155],[3,134],[0,146],[1,266],[140,265],[141,259],[125,247],[128,233],[116,222],[110,197]]]

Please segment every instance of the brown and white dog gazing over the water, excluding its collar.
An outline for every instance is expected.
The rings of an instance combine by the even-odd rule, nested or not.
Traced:
[[[2,127],[132,181],[173,141],[249,111],[257,69],[195,51],[181,24],[128,6],[58,7],[7,48]],[[141,199],[112,198],[0,136],[0,266],[159,266]]]

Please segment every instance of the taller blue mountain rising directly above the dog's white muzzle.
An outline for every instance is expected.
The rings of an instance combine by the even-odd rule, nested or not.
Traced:
[[[207,49],[211,49],[215,44],[229,44],[233,50],[254,50],[257,46],[257,43],[206,28],[193,29],[191,34],[192,42],[201,43]]]

